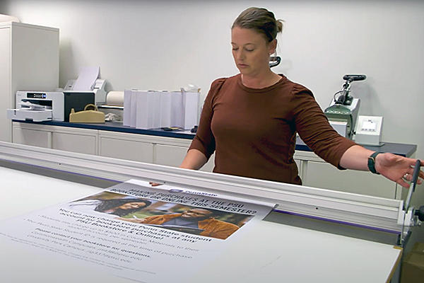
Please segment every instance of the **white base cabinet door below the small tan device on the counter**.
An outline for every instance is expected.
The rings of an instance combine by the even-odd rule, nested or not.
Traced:
[[[97,154],[97,135],[77,133],[52,133],[52,149],[78,152],[80,154]]]

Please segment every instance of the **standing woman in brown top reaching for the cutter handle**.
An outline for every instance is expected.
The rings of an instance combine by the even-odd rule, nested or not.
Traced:
[[[293,160],[298,132],[307,146],[339,169],[370,170],[409,187],[415,159],[374,153],[341,137],[310,90],[271,71],[269,57],[282,27],[264,8],[247,8],[237,17],[231,45],[240,74],[213,81],[180,167],[199,169],[216,151],[216,173],[300,185]]]

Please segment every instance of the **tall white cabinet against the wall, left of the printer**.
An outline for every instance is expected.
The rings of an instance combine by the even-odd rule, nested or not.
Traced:
[[[59,85],[59,29],[0,23],[0,140],[12,141],[6,109],[16,91],[54,91]]]

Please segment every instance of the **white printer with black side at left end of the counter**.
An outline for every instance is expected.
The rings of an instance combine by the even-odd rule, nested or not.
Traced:
[[[16,109],[8,109],[11,120],[64,121],[69,122],[69,114],[84,110],[86,105],[95,103],[95,93],[76,91],[18,91]]]

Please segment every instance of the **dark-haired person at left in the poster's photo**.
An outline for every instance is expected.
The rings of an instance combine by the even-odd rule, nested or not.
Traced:
[[[80,212],[93,213],[102,212],[111,216],[125,216],[138,212],[151,204],[148,200],[139,198],[122,198],[112,200],[81,200],[71,202],[69,209],[77,209]]]

